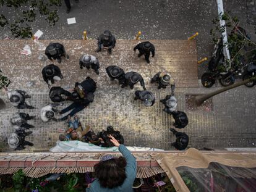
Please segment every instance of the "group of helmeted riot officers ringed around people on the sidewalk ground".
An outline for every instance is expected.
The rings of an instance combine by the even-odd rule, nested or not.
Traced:
[[[98,48],[96,52],[100,52],[103,49],[106,49],[109,54],[111,54],[111,50],[114,48],[116,44],[116,39],[111,34],[110,31],[106,30],[103,34],[101,34],[98,38]],[[134,48],[134,52],[139,50],[138,57],[144,55],[145,61],[149,64],[150,52],[152,57],[155,56],[155,47],[149,41],[145,41],[137,44]],[[45,50],[45,54],[50,61],[57,60],[61,63],[62,57],[66,57],[69,59],[69,56],[66,54],[64,46],[60,43],[50,43]],[[95,70],[95,73],[99,75],[100,63],[95,56],[85,54],[80,57],[79,60],[80,69],[86,67],[87,69],[92,68]],[[145,83],[142,75],[137,72],[130,71],[125,73],[120,67],[116,65],[110,65],[106,68],[106,73],[108,74],[111,81],[118,80],[121,88],[129,86],[132,90],[136,83],[140,82],[143,90],[135,91],[134,100],[140,99],[143,101],[143,104],[147,107],[153,106],[155,103],[155,96],[153,93],[145,88]],[[54,64],[47,65],[42,70],[43,80],[47,83],[50,88],[50,83],[54,84],[55,80],[61,80],[63,75],[61,73],[61,69]],[[167,95],[166,98],[161,99],[160,102],[164,104],[164,112],[173,115],[174,117],[174,127],[176,128],[184,128],[188,123],[187,115],[184,112],[177,111],[177,100],[174,97],[175,84],[173,78],[169,73],[158,72],[151,78],[150,83],[158,83],[158,89],[166,88],[167,86],[171,86],[171,94]],[[87,77],[81,83],[75,83],[75,88],[72,93],[67,90],[64,90],[61,87],[54,86],[49,90],[49,98],[53,102],[62,102],[62,101],[72,101],[70,106],[66,107],[59,111],[58,109],[54,109],[56,104],[49,104],[41,109],[41,119],[43,122],[48,122],[49,120],[66,120],[68,117],[72,117],[77,112],[82,111],[87,107],[90,102],[93,102],[94,92],[96,90],[96,82]],[[8,97],[13,106],[18,109],[33,109],[33,106],[28,105],[25,102],[26,98],[30,98],[30,96],[22,90],[14,90],[8,93]],[[68,115],[61,117],[60,119],[56,119],[55,114],[65,114],[66,112],[71,111]],[[15,120],[15,118],[17,120]],[[8,140],[9,146],[13,149],[23,149],[26,144],[33,145],[32,143],[25,141],[25,136],[32,133],[32,131],[25,132],[27,128],[31,128],[28,126],[27,120],[32,119],[28,114],[18,113],[14,114],[14,117],[11,120],[12,125],[15,127],[15,133],[11,135]],[[172,145],[179,150],[186,149],[187,144],[189,142],[189,137],[186,133],[177,132],[173,128],[170,129],[174,135],[176,135],[176,142],[172,143]]]

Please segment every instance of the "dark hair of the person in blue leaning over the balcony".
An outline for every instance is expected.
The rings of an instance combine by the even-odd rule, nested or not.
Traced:
[[[95,176],[101,187],[112,189],[124,183],[126,179],[125,167],[126,159],[124,157],[100,161],[94,165]]]

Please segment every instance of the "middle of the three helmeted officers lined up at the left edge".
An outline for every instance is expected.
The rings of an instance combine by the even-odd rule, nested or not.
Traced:
[[[30,125],[27,123],[28,120],[34,119],[35,116],[30,116],[29,114],[26,114],[24,112],[16,112],[12,115],[10,122],[15,129],[17,127],[23,127],[23,128],[33,128],[33,125]]]

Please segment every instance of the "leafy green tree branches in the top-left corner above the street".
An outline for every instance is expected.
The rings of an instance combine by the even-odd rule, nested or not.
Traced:
[[[37,1],[37,0],[0,0],[0,7],[9,9],[15,13],[15,17],[0,15],[0,26],[7,27],[15,38],[32,38],[31,22],[36,19],[39,12],[44,15],[49,25],[58,22],[58,7],[61,0]]]

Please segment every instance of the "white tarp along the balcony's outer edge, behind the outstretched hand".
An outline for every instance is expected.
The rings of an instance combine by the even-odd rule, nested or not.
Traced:
[[[141,148],[126,146],[129,151],[164,151],[163,149]],[[118,151],[117,147],[102,148],[91,143],[81,141],[57,141],[56,146],[49,149],[51,152],[79,152],[79,151]]]

